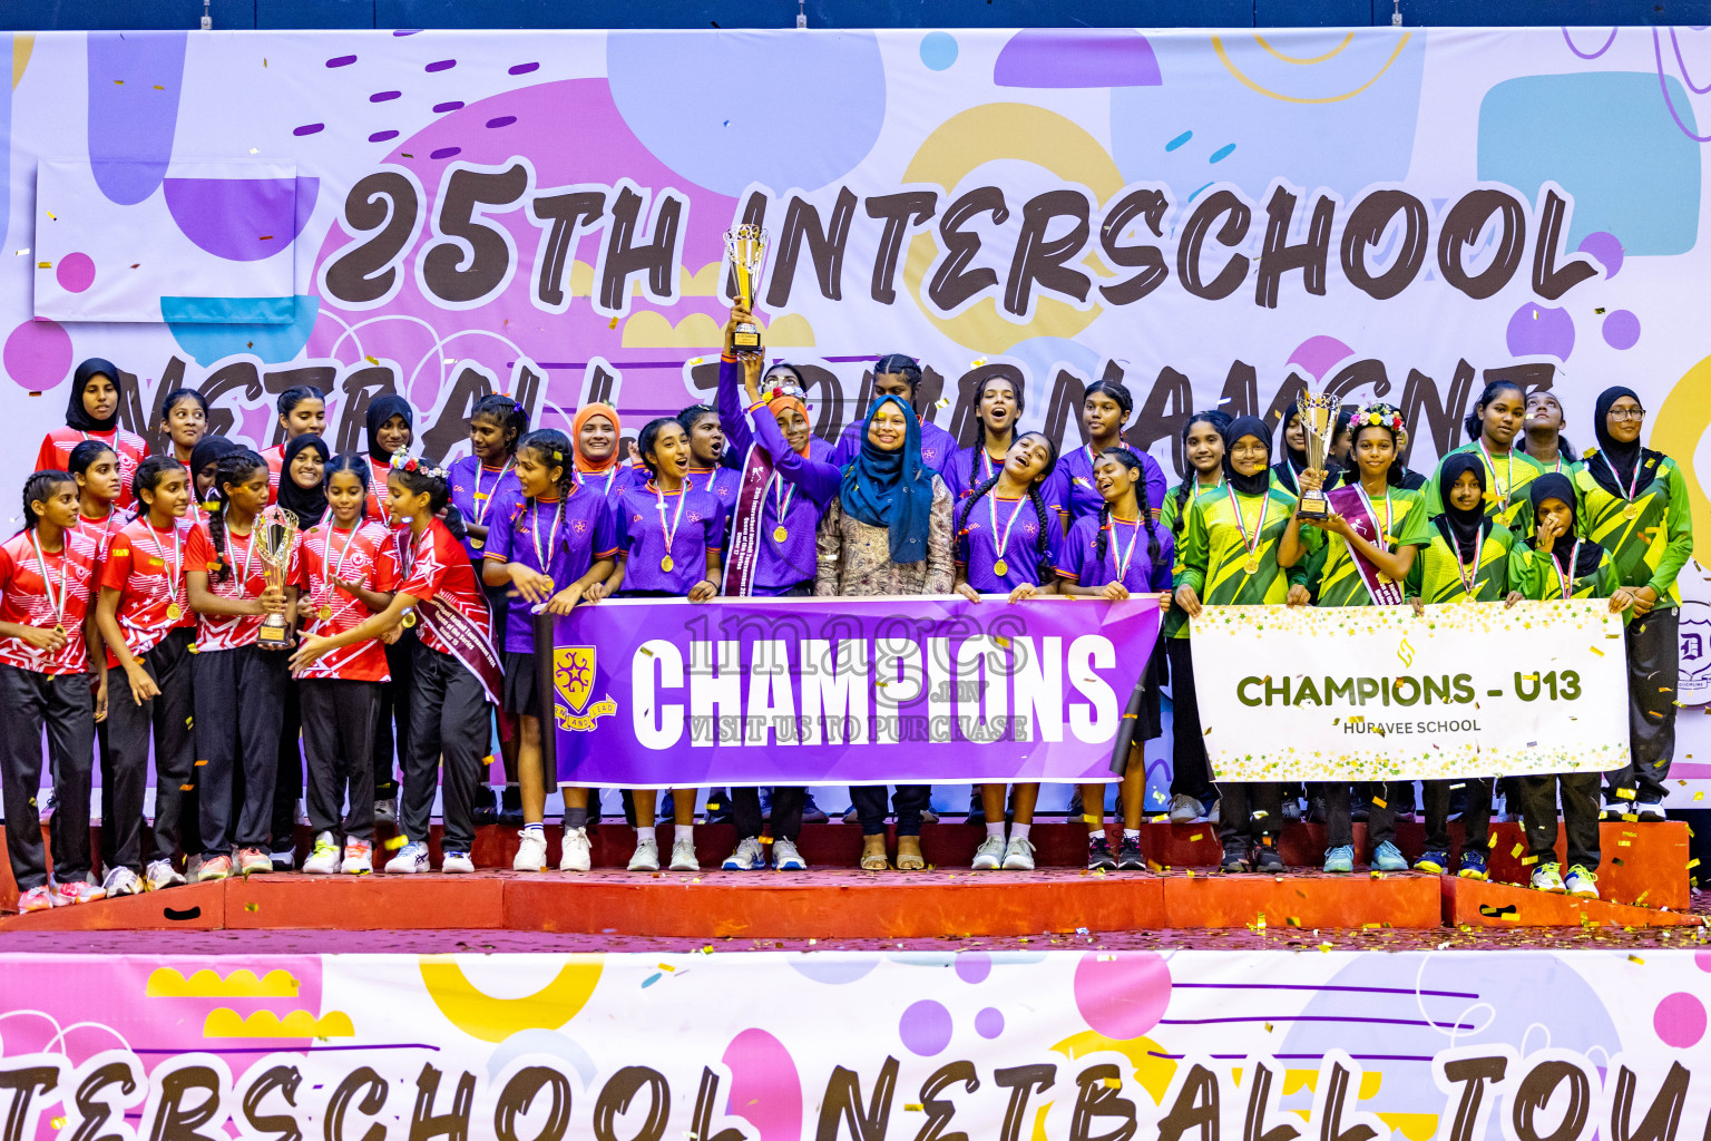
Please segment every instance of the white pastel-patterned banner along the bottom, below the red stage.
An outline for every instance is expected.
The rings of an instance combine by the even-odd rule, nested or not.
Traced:
[[[1702,951],[712,951],[3,955],[5,1139],[1697,1141],[1711,1110]]]

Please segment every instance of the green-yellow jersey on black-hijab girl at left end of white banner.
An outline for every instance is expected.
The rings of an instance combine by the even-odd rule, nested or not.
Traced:
[[[1175,587],[1193,587],[1206,606],[1282,604],[1292,583],[1307,582],[1305,566],[1278,566],[1278,539],[1295,513],[1295,496],[1275,477],[1263,496],[1240,494],[1228,486],[1201,494],[1187,511]],[[1256,544],[1252,554],[1242,539],[1244,530]],[[1254,571],[1247,573],[1247,566]]]

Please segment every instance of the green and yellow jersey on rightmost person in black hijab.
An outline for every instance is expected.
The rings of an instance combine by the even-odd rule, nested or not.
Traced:
[[[1588,453],[1588,458],[1591,453]],[[1608,554],[1619,587],[1651,587],[1658,602],[1680,606],[1675,576],[1694,553],[1694,520],[1682,469],[1667,455],[1646,453],[1632,503],[1593,479],[1586,464],[1574,474],[1576,530]]]

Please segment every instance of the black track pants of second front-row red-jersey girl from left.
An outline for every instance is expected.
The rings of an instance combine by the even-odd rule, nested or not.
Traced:
[[[161,689],[142,705],[130,695],[123,669],[108,671],[106,749],[101,753],[101,862],[140,872],[151,860],[171,860],[180,840],[185,852],[202,850],[202,828],[185,819],[195,785],[195,631],[175,630],[137,664]],[[142,823],[149,785],[149,746],[154,746],[154,830]],[[186,789],[192,785],[192,789]]]

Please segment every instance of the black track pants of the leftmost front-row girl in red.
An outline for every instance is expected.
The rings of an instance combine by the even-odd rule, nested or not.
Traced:
[[[41,850],[41,732],[48,732],[55,809],[48,825],[55,883],[89,878],[89,789],[96,766],[96,708],[89,674],[38,674],[0,665],[0,778],[5,848],[19,891],[48,883]]]

